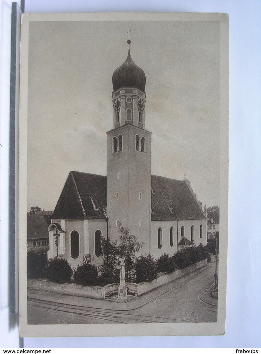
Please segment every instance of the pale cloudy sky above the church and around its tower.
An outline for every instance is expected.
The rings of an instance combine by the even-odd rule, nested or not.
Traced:
[[[28,200],[54,210],[70,171],[106,175],[112,74],[130,53],[146,75],[152,174],[190,180],[220,199],[220,27],[217,21],[30,22]]]

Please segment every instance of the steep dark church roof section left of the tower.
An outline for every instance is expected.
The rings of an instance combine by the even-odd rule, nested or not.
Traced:
[[[71,171],[52,214],[53,219],[105,219],[106,176]]]

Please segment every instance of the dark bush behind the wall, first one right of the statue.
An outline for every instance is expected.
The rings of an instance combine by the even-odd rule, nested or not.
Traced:
[[[157,263],[151,255],[141,256],[135,263],[136,281],[151,281],[157,278]]]

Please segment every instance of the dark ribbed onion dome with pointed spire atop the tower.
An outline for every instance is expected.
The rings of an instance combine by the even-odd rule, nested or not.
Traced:
[[[130,40],[127,43],[130,45]],[[145,91],[145,84],[145,73],[133,62],[129,51],[125,62],[112,75],[113,90],[116,91],[121,87],[136,87],[141,91]]]

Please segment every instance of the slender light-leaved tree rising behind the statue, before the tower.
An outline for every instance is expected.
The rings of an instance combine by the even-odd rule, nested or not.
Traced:
[[[141,250],[144,242],[139,242],[138,238],[130,234],[127,227],[123,227],[122,223],[119,224],[120,244],[118,246],[118,253],[125,261],[125,277],[126,281],[132,281],[134,278],[135,259],[139,250]]]

